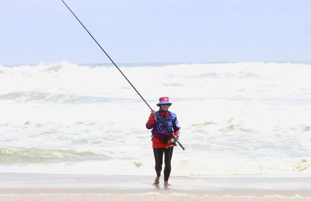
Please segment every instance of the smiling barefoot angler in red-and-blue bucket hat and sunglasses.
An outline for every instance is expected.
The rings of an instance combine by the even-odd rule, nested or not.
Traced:
[[[169,101],[169,97],[159,98],[159,103],[156,105],[159,107],[159,110],[151,110],[148,122],[146,123],[146,127],[148,129],[152,129],[151,140],[153,142],[152,147],[155,155],[156,172],[154,185],[159,184],[164,153],[164,186],[170,186],[168,180],[171,173],[171,159],[174,147],[174,141],[171,139],[178,140],[180,126],[178,124],[176,114],[169,111],[169,107],[172,105]],[[161,121],[157,117],[159,117]],[[174,138],[171,133],[174,134]],[[173,141],[173,143],[170,140]]]

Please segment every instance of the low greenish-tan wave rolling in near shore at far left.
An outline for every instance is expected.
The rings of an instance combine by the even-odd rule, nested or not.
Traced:
[[[108,156],[89,151],[49,150],[39,148],[0,147],[0,163],[59,163],[79,160],[105,160]]]

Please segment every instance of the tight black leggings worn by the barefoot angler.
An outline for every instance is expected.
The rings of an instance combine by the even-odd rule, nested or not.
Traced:
[[[163,152],[164,152],[164,181],[169,181],[171,173],[171,159],[173,155],[174,147],[165,148],[153,148],[155,155],[155,172],[156,176],[161,176],[162,164],[163,164]]]

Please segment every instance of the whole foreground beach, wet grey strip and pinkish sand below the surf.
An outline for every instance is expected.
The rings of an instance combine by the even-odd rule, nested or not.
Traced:
[[[311,177],[170,177],[0,173],[1,201],[311,200]]]

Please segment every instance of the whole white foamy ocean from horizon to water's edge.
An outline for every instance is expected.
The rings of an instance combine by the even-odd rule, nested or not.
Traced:
[[[120,64],[181,125],[172,176],[311,176],[311,64]],[[0,172],[155,175],[150,109],[111,64],[0,66]]]

